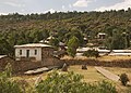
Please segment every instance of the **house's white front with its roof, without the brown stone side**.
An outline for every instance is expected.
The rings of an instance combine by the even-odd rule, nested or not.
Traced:
[[[21,61],[23,59],[34,59],[34,61],[41,61],[43,55],[48,54],[46,51],[44,54],[44,49],[51,48],[47,44],[41,43],[29,43],[23,45],[14,45],[15,48],[15,59]]]

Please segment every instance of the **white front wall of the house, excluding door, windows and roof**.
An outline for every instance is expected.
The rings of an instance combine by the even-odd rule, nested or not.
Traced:
[[[22,50],[22,55],[20,55],[20,50]],[[29,50],[29,57],[36,57],[36,61],[41,61],[41,48],[16,48],[15,49],[15,57],[26,57],[26,50]],[[37,50],[37,54],[35,55],[35,50]]]

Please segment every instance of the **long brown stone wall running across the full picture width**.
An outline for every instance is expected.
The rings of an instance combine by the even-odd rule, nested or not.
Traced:
[[[11,63],[12,69],[14,72],[24,72],[29,69],[36,69],[38,67],[44,66],[62,66],[64,63],[68,65],[83,65],[86,64],[88,66],[105,66],[105,67],[131,67],[131,59],[127,61],[112,61],[112,62],[99,62],[97,59],[59,59],[53,56],[45,58],[46,64],[41,64],[41,62],[22,62],[22,61],[13,61],[9,57],[0,58],[0,70],[4,70],[4,67],[8,63]],[[44,63],[44,62],[43,62]]]

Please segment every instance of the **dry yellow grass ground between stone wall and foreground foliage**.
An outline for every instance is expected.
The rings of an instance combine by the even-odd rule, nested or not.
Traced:
[[[119,67],[104,67],[104,68],[111,71],[111,72],[114,72],[114,74],[116,74],[116,75],[120,75],[120,74],[126,72],[129,76],[129,79],[131,80],[131,68],[119,68]],[[80,74],[80,75],[84,76],[83,81],[85,81],[85,82],[95,83],[97,81],[106,80],[106,81],[111,82],[114,85],[116,85],[119,93],[130,93],[131,92],[130,91],[131,90],[131,84],[130,83],[128,84],[128,87],[122,87],[120,81],[115,82],[115,81],[108,80],[103,75],[97,72],[97,70],[94,68],[94,66],[88,66],[87,70],[82,70],[80,65],[70,66],[69,71],[74,71],[76,74]],[[40,76],[43,76],[43,79],[45,79],[47,77],[47,74],[48,72],[40,74]],[[17,76],[17,77],[14,77],[14,79],[19,79],[19,80],[24,79],[31,85],[33,85],[38,76],[39,75],[35,75],[35,76]]]

